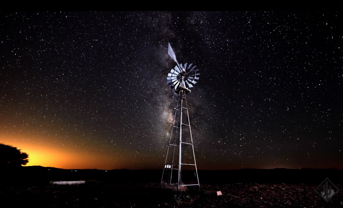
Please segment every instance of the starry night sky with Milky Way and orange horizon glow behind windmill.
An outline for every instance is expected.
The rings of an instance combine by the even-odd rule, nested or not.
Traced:
[[[170,42],[201,73],[198,169],[343,169],[341,12],[0,14],[0,143],[28,166],[162,170]]]

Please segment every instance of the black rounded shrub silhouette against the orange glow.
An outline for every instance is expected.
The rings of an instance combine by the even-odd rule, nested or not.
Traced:
[[[0,167],[16,168],[28,163],[28,154],[11,145],[0,144]]]

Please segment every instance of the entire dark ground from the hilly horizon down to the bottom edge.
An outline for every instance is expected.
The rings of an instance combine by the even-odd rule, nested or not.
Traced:
[[[0,207],[343,208],[343,174],[336,169],[199,171],[201,190],[188,186],[183,192],[161,187],[158,170],[78,170],[76,174],[71,170],[25,167],[15,172],[25,174],[18,179],[12,171],[2,177]],[[340,189],[328,202],[315,192],[325,178]],[[86,182],[49,183],[67,179]],[[223,195],[217,196],[216,191]]]

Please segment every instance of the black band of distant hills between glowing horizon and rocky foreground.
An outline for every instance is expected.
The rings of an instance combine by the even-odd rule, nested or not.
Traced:
[[[20,170],[4,170],[5,178],[0,183],[48,184],[50,181],[96,180],[111,183],[160,183],[162,170],[97,170],[60,169],[42,166],[23,166]],[[18,179],[14,175],[25,177]],[[320,184],[329,178],[335,184],[343,184],[343,170],[330,169],[237,169],[237,170],[198,170],[200,184],[230,183],[307,183]],[[184,170],[182,180],[193,180],[194,171]]]

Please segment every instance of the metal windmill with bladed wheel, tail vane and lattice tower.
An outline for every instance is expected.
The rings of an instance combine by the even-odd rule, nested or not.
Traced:
[[[170,43],[168,54],[177,65],[168,73],[167,83],[174,93],[178,94],[178,98],[161,185],[175,185],[178,191],[182,186],[197,185],[200,188],[186,99],[186,94],[191,92],[189,88],[197,83],[200,73],[192,63],[179,64]],[[185,179],[187,184],[182,179]]]

